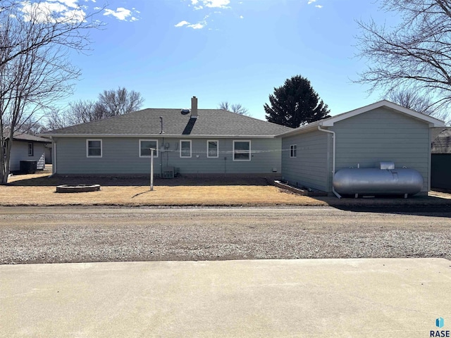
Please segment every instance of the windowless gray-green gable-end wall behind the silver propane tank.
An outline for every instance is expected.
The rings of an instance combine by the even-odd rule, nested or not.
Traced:
[[[424,177],[422,192],[428,191],[429,127],[427,123],[378,108],[335,123],[335,170],[378,168],[381,161],[392,161],[395,168],[412,168]]]

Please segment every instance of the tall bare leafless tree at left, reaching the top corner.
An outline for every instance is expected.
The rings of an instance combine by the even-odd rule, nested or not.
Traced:
[[[13,132],[70,93],[80,75],[68,58],[87,49],[99,23],[82,8],[56,13],[45,1],[0,3],[0,184],[6,184]]]

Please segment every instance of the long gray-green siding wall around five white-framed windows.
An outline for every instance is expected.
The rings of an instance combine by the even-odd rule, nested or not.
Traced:
[[[280,139],[206,137],[194,139],[156,137],[92,137],[102,139],[102,157],[87,158],[86,140],[78,137],[57,137],[56,170],[58,174],[146,174],[149,173],[150,158],[140,158],[140,139],[158,139],[159,151],[154,158],[154,172],[161,166],[178,168],[180,174],[273,174],[281,170]],[[180,139],[192,141],[191,158],[180,158]],[[208,140],[218,140],[218,158],[207,158]],[[233,140],[250,140],[251,161],[233,161]]]

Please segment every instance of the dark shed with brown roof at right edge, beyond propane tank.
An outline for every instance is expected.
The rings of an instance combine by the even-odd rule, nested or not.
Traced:
[[[431,187],[451,189],[451,128],[433,130]]]

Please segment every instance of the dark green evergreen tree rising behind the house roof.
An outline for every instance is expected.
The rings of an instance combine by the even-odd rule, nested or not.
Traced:
[[[266,120],[292,128],[328,118],[330,113],[310,81],[301,75],[293,76],[285,80],[283,86],[274,88],[269,102],[271,106],[264,104]]]

